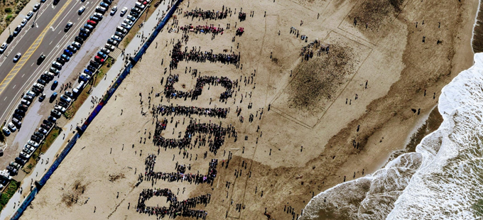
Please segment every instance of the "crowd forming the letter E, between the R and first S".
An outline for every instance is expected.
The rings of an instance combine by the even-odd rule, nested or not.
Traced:
[[[215,177],[217,177],[218,160],[212,159],[207,175],[200,175],[194,173],[185,173],[186,166],[177,165],[177,172],[154,172],[154,165],[156,164],[156,155],[148,155],[145,161],[146,170],[144,172],[144,179],[147,181],[163,180],[168,182],[183,182],[188,181],[195,184],[208,183],[212,184]]]

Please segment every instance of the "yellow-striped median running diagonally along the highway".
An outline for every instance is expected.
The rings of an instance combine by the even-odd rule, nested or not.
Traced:
[[[53,26],[53,23],[55,23],[57,18],[59,18],[60,14],[62,14],[65,11],[65,9],[67,9],[67,6],[70,4],[71,1],[72,0],[68,0],[64,4],[62,9],[60,9],[59,12],[52,18],[52,21],[50,21],[50,23],[48,23],[48,25],[43,29],[42,33],[38,35],[38,38],[32,43],[32,45],[30,46],[30,48],[28,48],[26,53],[21,57],[20,60],[18,60],[18,62],[12,68],[12,70],[10,70],[9,74],[6,75],[5,79],[0,82],[0,94],[4,92],[4,90],[10,84],[13,77],[15,77],[15,75],[17,75],[18,72],[20,72],[21,68],[23,67],[23,65],[26,64],[27,60],[31,57],[31,55],[33,55],[33,53],[36,52],[38,46],[40,46],[40,43],[42,43],[43,37],[50,29],[50,26]]]

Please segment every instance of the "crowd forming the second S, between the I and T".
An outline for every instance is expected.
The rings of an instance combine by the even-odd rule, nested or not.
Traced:
[[[179,75],[169,75],[166,84],[164,87],[164,93],[165,96],[168,99],[197,99],[198,96],[201,95],[201,92],[203,90],[203,87],[205,87],[206,84],[217,86],[221,85],[225,89],[227,89],[225,92],[222,94],[219,94],[219,100],[224,101],[225,99],[228,99],[232,97],[233,95],[233,82],[231,79],[228,79],[227,77],[212,77],[212,76],[203,76],[203,77],[198,77],[196,79],[196,85],[195,89],[190,90],[190,92],[183,92],[176,90],[174,87],[174,84],[179,81]]]

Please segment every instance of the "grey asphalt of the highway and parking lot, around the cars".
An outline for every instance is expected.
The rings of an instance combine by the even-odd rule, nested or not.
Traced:
[[[95,7],[99,5],[100,0],[97,1],[75,1],[75,0],[61,0],[57,6],[52,5],[52,0],[48,0],[40,6],[38,11],[38,17],[36,20],[36,27],[31,28],[33,19],[35,15],[30,19],[27,25],[23,28],[23,31],[18,34],[18,36],[13,40],[13,42],[7,48],[6,53],[0,56],[0,82],[7,75],[9,75],[9,70],[11,70],[16,64],[13,63],[13,55],[16,53],[25,53],[31,45],[38,40],[38,36],[48,28],[45,33],[42,42],[32,53],[31,57],[26,60],[25,64],[20,71],[13,77],[11,82],[7,85],[6,89],[0,92],[0,120],[3,123],[11,121],[11,114],[13,110],[18,106],[22,94],[29,89],[31,85],[36,82],[40,75],[48,71],[51,67],[51,63],[57,57],[63,54],[63,50],[70,45],[75,36],[78,35],[79,29],[84,26],[89,16],[94,13]],[[89,38],[82,44],[80,50],[77,51],[70,58],[69,62],[66,62],[62,70],[60,70],[60,75],[55,77],[59,83],[59,86],[51,90],[50,86],[52,82],[47,84],[44,89],[46,98],[43,102],[38,101],[38,97],[33,99],[33,103],[29,106],[26,116],[22,121],[22,127],[18,129],[15,133],[7,138],[7,143],[9,147],[4,150],[4,156],[0,158],[0,170],[10,161],[18,156],[18,153],[23,148],[23,145],[30,139],[30,136],[34,131],[38,129],[41,121],[47,119],[50,115],[50,110],[53,109],[54,103],[50,103],[48,98],[53,92],[58,92],[59,95],[63,94],[60,92],[60,85],[72,82],[72,88],[77,86],[77,77],[79,72],[87,66],[90,58],[94,56],[100,48],[104,46],[107,39],[114,34],[116,26],[119,26],[122,20],[126,18],[126,15],[121,17],[120,10],[126,6],[131,8],[134,6],[135,0],[119,0],[114,1],[109,7],[108,11],[104,13],[104,17],[94,28],[94,31],[89,35]],[[67,4],[67,5],[66,5]],[[118,11],[114,16],[109,15],[109,11],[112,6],[118,6]],[[63,11],[62,7],[65,7]],[[78,14],[78,9],[80,6],[86,6],[84,13]],[[55,18],[56,14],[59,15]],[[21,15],[19,15],[21,16]],[[48,26],[53,19],[56,19],[52,26]],[[72,22],[74,25],[69,31],[65,32],[64,28],[67,22]],[[7,29],[8,31],[8,29]],[[45,55],[45,60],[37,65],[37,59],[40,55]],[[19,173],[20,175],[20,173]]]

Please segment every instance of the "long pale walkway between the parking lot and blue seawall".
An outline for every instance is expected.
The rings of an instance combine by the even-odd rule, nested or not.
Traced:
[[[163,4],[160,4],[158,8],[156,8],[156,11],[159,12],[161,15],[163,11],[167,11],[168,9],[168,4],[165,4],[165,1]],[[146,22],[143,24],[143,27],[139,29],[138,33],[144,33],[145,36],[146,34],[151,35],[153,28],[158,24],[158,21],[161,21],[161,16],[156,19],[156,13],[153,13],[153,16],[149,17]],[[142,15],[139,19],[142,19]],[[134,52],[142,45],[141,38],[139,37],[134,37],[129,45],[126,47],[125,53],[124,54],[131,54],[134,56]],[[44,163],[38,163],[36,167],[32,170],[30,175],[27,175],[23,181],[21,182],[21,189],[23,189],[22,194],[18,190],[15,194],[13,194],[13,197],[11,197],[10,201],[8,204],[6,204],[4,210],[1,211],[0,213],[0,219],[9,219],[17,210],[19,207],[19,204],[23,202],[23,199],[28,195],[31,189],[31,185],[33,185],[33,182],[36,180],[40,180],[40,178],[43,176],[43,174],[48,170],[48,167],[52,165],[53,161],[55,160],[55,156],[58,155],[65,145],[67,145],[68,141],[72,136],[74,136],[75,132],[75,127],[82,125],[81,121],[85,121],[87,117],[89,116],[89,113],[92,111],[91,106],[92,103],[90,100],[93,97],[97,97],[99,99],[102,98],[102,96],[105,94],[107,89],[109,89],[112,85],[112,83],[116,80],[117,75],[119,75],[119,72],[121,70],[124,70],[124,55],[119,55],[117,57],[116,62],[114,62],[114,65],[112,65],[111,69],[109,72],[107,72],[107,77],[104,79],[99,79],[101,82],[97,85],[97,87],[94,87],[92,89],[91,94],[89,94],[89,97],[86,99],[85,103],[82,104],[80,109],[77,111],[77,114],[72,117],[72,119],[65,124],[63,127],[63,132],[60,133],[57,139],[52,143],[50,148],[45,152],[44,155],[40,157],[40,160],[43,159]],[[72,129],[71,129],[72,126]],[[65,138],[63,136],[65,135]],[[82,146],[75,146],[76,148],[81,148]],[[46,164],[46,161],[49,161],[48,164]],[[15,206],[14,206],[15,204]]]

